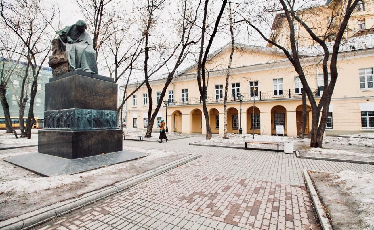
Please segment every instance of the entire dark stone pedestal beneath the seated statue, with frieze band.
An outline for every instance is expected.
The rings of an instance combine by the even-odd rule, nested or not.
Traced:
[[[67,159],[122,151],[117,126],[117,84],[80,70],[45,85],[44,127],[38,151]]]

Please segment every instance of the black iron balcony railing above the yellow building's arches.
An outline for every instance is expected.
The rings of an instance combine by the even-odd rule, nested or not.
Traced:
[[[303,89],[298,90],[291,90],[288,89],[286,91],[277,91],[275,94],[274,91],[270,92],[255,92],[254,93],[243,93],[244,96],[243,101],[266,101],[266,100],[278,100],[278,99],[287,99],[287,98],[301,98],[301,92]],[[321,96],[322,88],[319,87],[316,89],[312,89],[314,96]],[[207,96],[206,103],[220,103],[223,102],[223,98],[218,96]],[[227,96],[227,102],[239,101],[236,95],[229,95]],[[202,98],[200,97],[193,97],[193,98],[178,98],[178,99],[169,99],[169,105],[188,105],[188,104],[200,104],[202,103]]]

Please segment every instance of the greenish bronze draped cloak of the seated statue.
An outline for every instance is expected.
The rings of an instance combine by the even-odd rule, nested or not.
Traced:
[[[86,31],[80,34],[74,30],[74,25],[71,25],[56,33],[65,46],[67,61],[73,69],[98,74],[96,52],[93,49],[91,36]],[[74,43],[67,43],[66,36],[70,36]]]

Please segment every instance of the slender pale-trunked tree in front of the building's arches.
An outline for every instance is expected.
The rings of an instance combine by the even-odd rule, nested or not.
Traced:
[[[225,84],[225,95],[223,99],[223,138],[227,138],[227,90],[229,89],[229,78],[231,63],[233,60],[233,54],[235,51],[235,39],[234,39],[234,30],[232,23],[232,10],[231,10],[231,1],[229,1],[229,26],[230,26],[230,35],[231,35],[231,52],[229,56],[229,64],[227,65],[227,74],[226,74],[226,84]]]

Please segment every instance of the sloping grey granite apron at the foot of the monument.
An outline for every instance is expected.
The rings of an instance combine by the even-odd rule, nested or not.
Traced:
[[[57,175],[70,175],[101,168],[107,165],[114,165],[130,160],[136,160],[147,156],[147,153],[132,151],[118,151],[104,155],[96,155],[80,159],[65,159],[48,154],[31,152],[5,159],[6,162],[21,168],[35,172],[36,174],[50,177]]]

